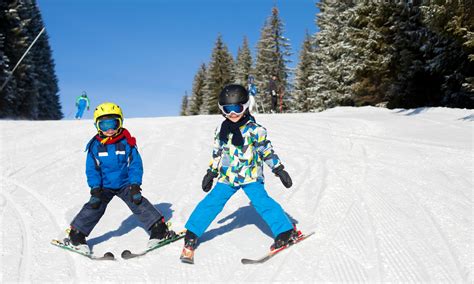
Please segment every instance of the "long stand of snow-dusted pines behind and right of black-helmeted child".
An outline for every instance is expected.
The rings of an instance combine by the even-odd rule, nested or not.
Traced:
[[[335,106],[474,108],[472,1],[325,1],[319,31],[307,34],[295,70],[278,9],[265,21],[253,60],[247,39],[234,60],[219,35],[208,65],[198,69],[182,115],[215,114],[218,90],[255,77],[257,101],[272,74],[283,109],[314,112]]]

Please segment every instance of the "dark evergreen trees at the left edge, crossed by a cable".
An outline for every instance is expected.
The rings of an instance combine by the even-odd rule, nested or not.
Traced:
[[[58,80],[43,33],[12,76],[13,67],[44,27],[35,0],[0,1],[0,118],[61,119]]]

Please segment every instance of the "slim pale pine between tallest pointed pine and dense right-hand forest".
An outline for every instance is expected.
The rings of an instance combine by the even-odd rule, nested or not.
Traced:
[[[315,94],[311,92],[310,76],[314,73],[314,46],[311,36],[306,36],[300,51],[298,66],[295,74],[294,109],[308,112],[314,109]]]

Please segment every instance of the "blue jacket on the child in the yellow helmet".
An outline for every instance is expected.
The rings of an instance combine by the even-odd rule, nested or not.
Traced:
[[[103,145],[94,137],[86,149],[86,175],[90,188],[118,190],[129,184],[142,184],[142,158],[127,139]]]

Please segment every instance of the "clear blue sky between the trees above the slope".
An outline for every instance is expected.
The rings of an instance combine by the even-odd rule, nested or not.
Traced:
[[[82,90],[93,108],[113,101],[125,117],[179,115],[220,33],[234,57],[247,36],[252,55],[275,5],[294,61],[306,30],[317,30],[315,0],[37,0],[53,49],[66,119]]]

